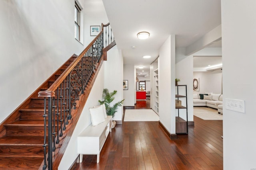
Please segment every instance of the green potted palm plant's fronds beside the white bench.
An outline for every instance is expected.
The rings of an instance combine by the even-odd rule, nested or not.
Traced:
[[[113,106],[110,106],[110,103],[113,102],[113,100],[115,99],[114,96],[116,93],[116,90],[114,90],[113,92],[109,92],[107,88],[104,88],[102,92],[102,98],[104,100],[99,100],[100,104],[105,104],[107,115],[112,115],[112,117],[115,116],[115,113],[117,112],[117,107],[124,104],[124,100],[121,100],[120,102],[115,103]]]

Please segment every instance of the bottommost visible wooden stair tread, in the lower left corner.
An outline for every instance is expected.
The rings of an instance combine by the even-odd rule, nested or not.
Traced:
[[[0,158],[1,169],[38,170],[44,158],[41,157],[4,157]]]

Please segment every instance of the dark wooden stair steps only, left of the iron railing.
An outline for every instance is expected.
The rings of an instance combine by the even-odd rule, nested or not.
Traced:
[[[16,120],[3,125],[5,135],[0,137],[1,168],[32,170],[40,167],[44,160],[44,98],[38,98],[38,92],[47,90],[76,57],[72,56],[30,96],[26,104],[18,109]]]

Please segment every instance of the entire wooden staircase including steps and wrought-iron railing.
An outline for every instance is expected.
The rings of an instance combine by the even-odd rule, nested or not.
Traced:
[[[102,28],[108,25],[109,23],[102,24]],[[72,135],[97,72],[106,59],[106,51],[116,44],[115,41],[106,40],[106,48],[102,49],[104,43],[101,42],[100,47],[97,38],[103,41],[103,30],[100,34],[79,56],[70,57],[1,123],[0,169],[33,170],[58,167],[69,140],[67,136]],[[94,54],[95,49],[97,54]],[[83,67],[82,82],[76,78],[80,66]],[[50,107],[49,101],[53,101],[49,103]],[[50,115],[52,119],[48,119]],[[48,139],[52,142],[47,142]],[[60,152],[62,153],[59,154]],[[52,164],[55,168],[52,168]]]

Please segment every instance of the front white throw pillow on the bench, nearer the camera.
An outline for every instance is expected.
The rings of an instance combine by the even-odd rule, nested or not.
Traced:
[[[102,105],[98,107],[90,108],[89,110],[91,115],[92,126],[96,126],[106,120],[103,113]]]

